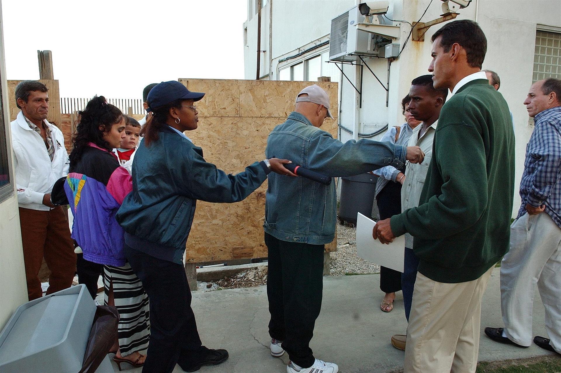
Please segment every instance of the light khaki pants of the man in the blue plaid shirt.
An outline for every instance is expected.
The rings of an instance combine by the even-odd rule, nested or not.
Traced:
[[[500,265],[500,306],[505,333],[513,342],[532,344],[534,291],[545,307],[550,344],[561,353],[561,228],[542,212],[522,215],[511,226],[511,249]]]

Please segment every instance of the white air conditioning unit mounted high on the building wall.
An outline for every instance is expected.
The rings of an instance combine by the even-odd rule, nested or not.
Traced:
[[[358,6],[344,12],[331,20],[331,33],[329,35],[329,60],[338,62],[356,61],[357,56],[379,56],[384,54],[384,47],[392,40],[358,30],[357,23],[364,22],[365,16],[361,15]],[[387,22],[379,17],[380,22]],[[391,25],[392,22],[387,22]]]

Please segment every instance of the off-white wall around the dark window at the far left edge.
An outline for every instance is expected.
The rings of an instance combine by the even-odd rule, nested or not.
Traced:
[[[4,60],[4,39],[2,36],[2,6],[0,2],[0,83],[2,107],[0,120],[6,127],[6,142],[11,153],[10,115],[8,114],[8,86],[6,84],[6,62]],[[3,137],[4,134],[2,134]],[[13,170],[10,179],[14,180]],[[15,183],[12,193],[0,202],[0,330],[6,325],[12,313],[27,302],[24,253],[21,246],[20,219],[17,208]]]

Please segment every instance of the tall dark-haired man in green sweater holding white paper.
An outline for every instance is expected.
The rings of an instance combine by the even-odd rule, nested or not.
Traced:
[[[436,31],[429,71],[452,92],[434,135],[419,207],[379,221],[383,243],[414,237],[419,257],[404,373],[475,372],[481,297],[508,251],[514,190],[514,132],[502,94],[481,66],[485,34],[470,20]]]

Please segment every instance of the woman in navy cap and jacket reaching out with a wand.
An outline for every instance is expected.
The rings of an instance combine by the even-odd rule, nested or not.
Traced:
[[[203,96],[178,81],[150,90],[152,115],[132,163],[132,192],[117,213],[125,229],[125,256],[150,298],[151,336],[143,372],[171,372],[176,363],[194,372],[228,358],[226,350],[202,345],[191,309],[183,253],[197,199],[238,202],[270,171],[295,176],[283,166],[290,161],[277,158],[255,162],[237,175],[206,162],[203,149],[183,133],[197,128],[194,103]]]

